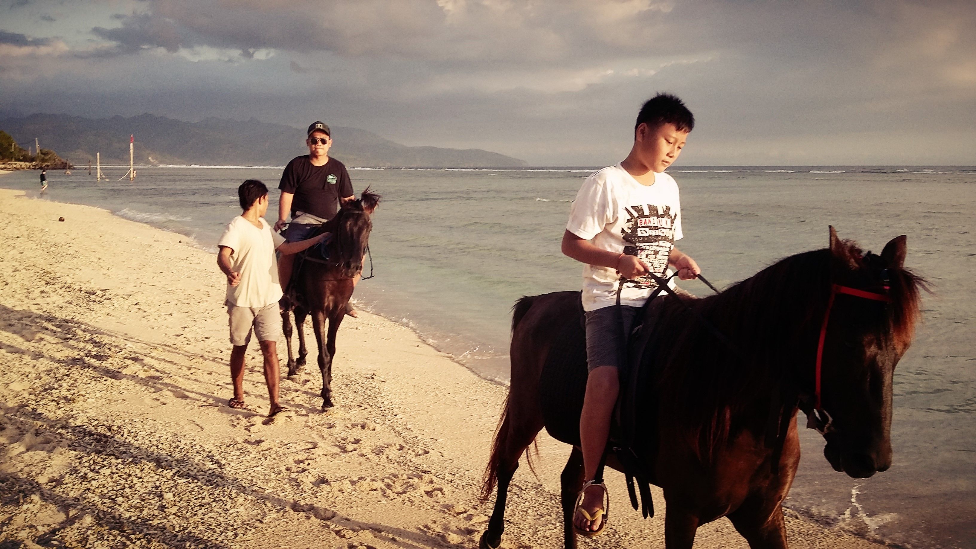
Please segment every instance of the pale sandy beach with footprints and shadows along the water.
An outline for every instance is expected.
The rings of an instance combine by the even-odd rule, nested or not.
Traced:
[[[231,409],[214,255],[22,191],[0,190],[0,212],[0,544],[477,546],[505,387],[362,313],[339,333],[332,411],[319,409],[311,360],[282,381],[290,410],[266,420],[254,344],[250,409]],[[510,489],[504,547],[561,546],[568,447],[543,434],[540,450],[539,477],[523,466]],[[608,485],[608,531],[581,543],[663,547],[664,514],[641,520],[623,477]],[[660,491],[656,501],[663,509]],[[879,547],[787,515],[793,548]],[[699,529],[696,547],[747,545],[721,520]]]

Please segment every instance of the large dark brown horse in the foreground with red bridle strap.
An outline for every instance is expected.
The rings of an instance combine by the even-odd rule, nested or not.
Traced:
[[[905,236],[879,256],[839,240],[833,228],[830,236],[830,248],[781,260],[720,295],[660,305],[654,363],[645,364],[657,373],[644,395],[654,402],[648,429],[660,444],[643,465],[664,489],[668,549],[690,549],[699,526],[725,516],[750,547],[787,547],[780,505],[799,463],[797,407],[816,409],[836,471],[865,478],[891,465],[892,375],[912,341],[924,282],[904,269]],[[553,433],[559,429],[540,398],[551,392],[541,380],[549,379],[543,370],[557,334],[580,321],[579,299],[578,292],[525,297],[513,309],[511,385],[483,486],[487,499],[497,482],[498,496],[482,548],[501,543],[508,483],[539,431],[579,443],[578,431],[575,440],[565,429]],[[582,390],[564,398],[582,407]],[[771,417],[782,426],[774,443]],[[612,456],[607,465],[620,467]],[[578,446],[561,481],[565,545],[576,547]]]

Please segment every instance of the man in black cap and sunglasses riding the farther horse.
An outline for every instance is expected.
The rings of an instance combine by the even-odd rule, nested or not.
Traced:
[[[289,242],[305,240],[309,232],[335,217],[340,202],[355,199],[346,165],[329,157],[329,148],[332,148],[329,126],[316,121],[308,126],[307,134],[308,154],[292,158],[278,184],[281,197],[274,230],[281,231],[287,224],[284,236]],[[290,224],[289,214],[292,216]],[[294,263],[294,255],[282,256],[278,262],[279,279],[285,284],[291,280]],[[348,306],[346,312],[356,316]]]

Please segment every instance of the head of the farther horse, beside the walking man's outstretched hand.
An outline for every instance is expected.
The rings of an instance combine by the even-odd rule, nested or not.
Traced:
[[[330,246],[330,263],[344,271],[351,278],[362,271],[363,255],[369,245],[369,233],[373,230],[370,216],[380,204],[381,196],[363,191],[359,199],[343,204],[339,213],[331,220],[333,238]]]

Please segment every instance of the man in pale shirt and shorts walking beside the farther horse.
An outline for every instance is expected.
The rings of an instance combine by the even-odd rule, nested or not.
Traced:
[[[281,335],[281,316],[278,300],[281,284],[278,281],[278,265],[274,255],[277,249],[282,255],[298,253],[321,242],[325,234],[319,234],[298,242],[285,242],[285,238],[264,221],[267,213],[267,187],[250,179],[237,189],[244,212],[227,225],[217,243],[217,265],[227,277],[226,302],[230,323],[230,378],[234,397],[227,401],[232,408],[244,404],[244,355],[251,341],[252,330],[258,336],[264,355],[264,381],[273,417],[284,410],[278,402],[278,353],[277,342]]]

